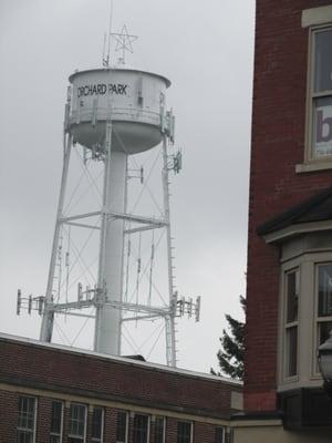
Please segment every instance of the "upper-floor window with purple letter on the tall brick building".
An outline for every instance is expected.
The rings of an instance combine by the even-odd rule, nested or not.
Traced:
[[[308,159],[332,161],[332,27],[311,29]]]

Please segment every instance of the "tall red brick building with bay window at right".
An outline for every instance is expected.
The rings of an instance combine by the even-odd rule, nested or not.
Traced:
[[[332,441],[317,362],[332,329],[331,288],[332,2],[257,0],[246,414],[236,442]]]

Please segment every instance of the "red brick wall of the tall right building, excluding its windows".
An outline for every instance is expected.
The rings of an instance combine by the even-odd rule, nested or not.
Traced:
[[[303,163],[308,29],[303,9],[331,0],[257,0],[249,195],[245,409],[276,409],[279,251],[257,226],[332,185],[331,171]]]

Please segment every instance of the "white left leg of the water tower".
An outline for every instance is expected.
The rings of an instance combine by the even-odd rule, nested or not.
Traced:
[[[62,167],[62,178],[61,178],[61,188],[58,204],[58,213],[56,213],[56,222],[52,245],[52,255],[51,262],[49,269],[49,278],[48,278],[48,287],[44,302],[44,312],[42,318],[41,331],[40,331],[40,340],[41,341],[51,341],[52,332],[53,332],[53,321],[54,321],[54,312],[50,309],[50,303],[53,301],[53,282],[54,282],[54,272],[55,272],[55,264],[56,264],[56,254],[59,248],[59,237],[60,237],[60,228],[61,228],[61,218],[63,212],[63,203],[65,196],[69,165],[71,158],[71,150],[72,150],[72,135],[66,136],[66,142],[64,146],[63,154],[63,167]]]

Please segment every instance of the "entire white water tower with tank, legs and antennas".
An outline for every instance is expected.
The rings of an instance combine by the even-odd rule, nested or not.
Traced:
[[[40,339],[51,341],[56,315],[95,318],[94,350],[121,353],[121,330],[124,312],[133,319],[165,320],[166,361],[176,365],[175,319],[184,313],[199,317],[199,299],[179,297],[174,288],[174,264],[169,220],[170,169],[180,167],[179,154],[168,153],[174,141],[174,116],[166,110],[169,80],[163,75],[127,69],[123,64],[74,72],[70,78],[64,121],[63,172],[45,296],[22,298],[19,291],[18,312],[27,303],[42,315]],[[163,216],[152,217],[127,212],[128,158],[162,144]],[[102,164],[101,205],[97,210],[64,214],[68,181],[73,150],[83,150],[84,163]],[[97,223],[92,223],[96,219]],[[128,227],[128,223],[131,223]],[[98,260],[95,285],[83,288],[77,282],[77,297],[61,299],[62,228],[76,227],[98,231]],[[124,243],[126,235],[166,230],[167,302],[153,306],[124,298]],[[68,254],[69,255],[69,254]],[[68,260],[68,257],[64,257]],[[69,265],[66,265],[69,268]],[[87,268],[86,268],[87,269]],[[87,269],[89,270],[89,269]],[[56,281],[58,280],[58,281]],[[56,289],[58,288],[58,289]],[[83,309],[93,308],[93,315]]]

